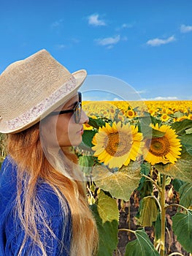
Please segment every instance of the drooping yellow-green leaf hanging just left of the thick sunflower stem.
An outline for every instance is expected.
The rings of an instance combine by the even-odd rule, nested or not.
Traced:
[[[142,227],[152,227],[153,222],[158,217],[158,206],[154,197],[148,196],[142,199],[141,207],[139,208],[139,225]]]

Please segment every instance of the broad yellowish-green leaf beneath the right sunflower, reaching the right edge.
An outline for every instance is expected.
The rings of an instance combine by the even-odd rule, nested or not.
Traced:
[[[157,164],[155,167],[160,173],[182,181],[192,182],[192,156],[186,151],[181,154],[181,157],[174,164]]]

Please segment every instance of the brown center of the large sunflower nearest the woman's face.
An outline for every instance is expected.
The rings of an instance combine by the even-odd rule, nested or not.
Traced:
[[[132,138],[124,132],[110,133],[104,139],[104,148],[110,156],[121,157],[131,149]]]

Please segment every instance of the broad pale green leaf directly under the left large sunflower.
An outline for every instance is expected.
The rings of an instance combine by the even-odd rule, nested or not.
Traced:
[[[110,192],[112,197],[128,201],[131,193],[139,185],[140,165],[130,164],[122,171],[111,173],[102,166],[93,168],[93,177],[97,187]]]

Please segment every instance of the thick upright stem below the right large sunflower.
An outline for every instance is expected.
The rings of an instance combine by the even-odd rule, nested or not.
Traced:
[[[162,176],[161,185],[161,250],[160,255],[165,255],[165,228],[166,228],[166,206],[165,206],[166,175]]]

